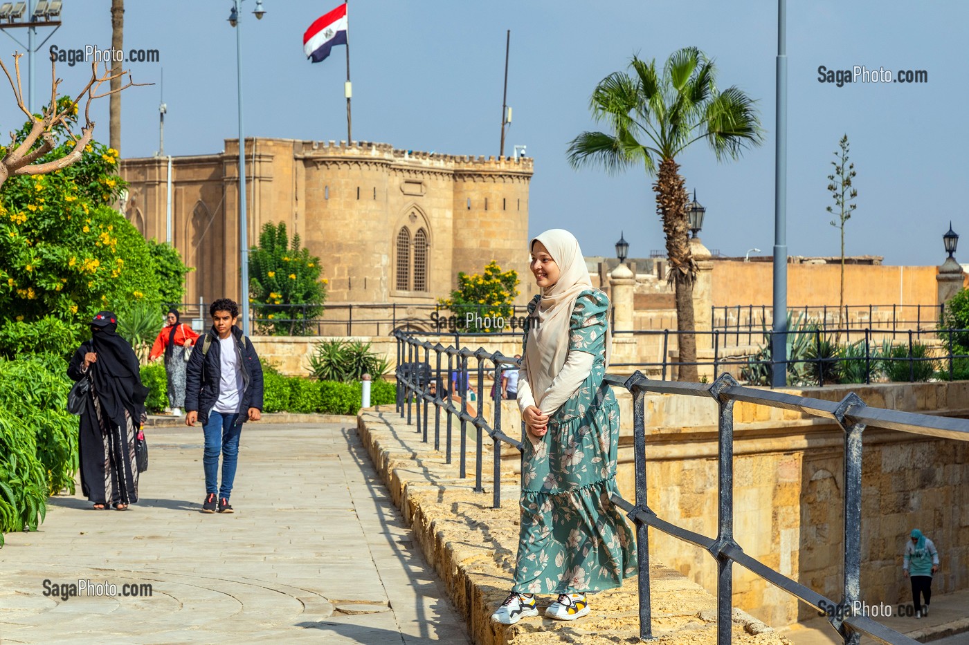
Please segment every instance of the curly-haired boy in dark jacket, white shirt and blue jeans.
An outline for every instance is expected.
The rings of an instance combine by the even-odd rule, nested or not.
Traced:
[[[205,436],[203,512],[231,513],[239,437],[246,420],[258,421],[263,410],[263,366],[252,341],[235,326],[238,305],[219,298],[208,308],[212,328],[192,352],[185,375],[185,424],[202,421]],[[219,486],[219,453],[222,485]],[[218,499],[216,500],[216,495]]]

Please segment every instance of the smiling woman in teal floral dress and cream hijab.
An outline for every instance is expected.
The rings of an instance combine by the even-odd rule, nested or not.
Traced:
[[[512,593],[491,616],[538,616],[536,594],[557,594],[546,615],[589,613],[586,593],[636,573],[632,529],[612,505],[619,407],[608,384],[609,298],[592,287],[578,241],[547,230],[531,242],[542,288],[528,305],[518,408],[525,421],[521,535]]]

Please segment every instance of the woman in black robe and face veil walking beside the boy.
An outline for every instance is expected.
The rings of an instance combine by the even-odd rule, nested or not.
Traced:
[[[109,504],[127,510],[138,502],[135,435],[144,421],[148,388],[141,384],[138,356],[117,335],[117,317],[98,312],[91,340],[71,358],[67,375],[90,379],[90,396],[80,414],[80,489],[97,510]]]

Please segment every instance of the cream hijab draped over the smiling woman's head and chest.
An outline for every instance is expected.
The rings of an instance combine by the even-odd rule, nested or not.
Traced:
[[[529,252],[533,250],[535,242],[541,242],[546,247],[548,255],[561,271],[558,282],[542,290],[542,299],[532,314],[533,321],[529,326],[528,342],[525,345],[524,364],[528,372],[528,384],[535,397],[535,405],[541,409],[548,386],[558,376],[568,358],[569,323],[578,294],[593,287],[575,235],[568,230],[546,230],[529,242]],[[609,355],[610,335],[607,324],[607,368]]]

